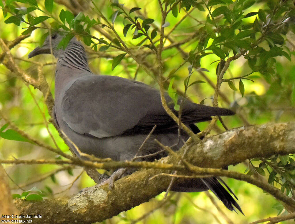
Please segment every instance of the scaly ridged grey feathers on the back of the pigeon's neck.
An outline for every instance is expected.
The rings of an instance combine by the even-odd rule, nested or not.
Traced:
[[[91,72],[88,67],[85,49],[76,40],[70,41],[66,49],[59,55],[57,67],[59,66]]]

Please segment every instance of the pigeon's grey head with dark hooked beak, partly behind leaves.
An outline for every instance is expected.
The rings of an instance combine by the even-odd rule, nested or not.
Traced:
[[[34,57],[36,55],[40,55],[40,54],[53,54],[55,57],[58,57],[58,55],[60,55],[61,51],[63,51],[63,49],[57,49],[58,48],[58,44],[59,42],[63,39],[63,35],[58,33],[58,32],[54,32],[50,35],[47,36],[47,38],[45,39],[42,47],[36,47],[29,55],[28,58]]]

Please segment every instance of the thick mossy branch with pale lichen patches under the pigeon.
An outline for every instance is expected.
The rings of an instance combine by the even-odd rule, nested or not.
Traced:
[[[248,126],[223,134],[211,136],[191,144],[185,156],[186,162],[199,167],[221,168],[237,164],[245,159],[268,157],[273,154],[295,153],[295,123],[269,123],[260,126]],[[178,155],[183,154],[178,151]],[[175,156],[165,157],[162,162],[177,164]],[[190,168],[190,167],[189,167]],[[197,167],[192,167],[194,171]],[[295,201],[286,197],[280,190],[271,185],[247,178],[243,174],[220,169],[206,169],[207,174],[220,174],[236,179],[245,180],[260,185],[274,197],[283,200],[291,207]],[[58,198],[38,202],[16,200],[15,204],[24,215],[40,214],[43,218],[33,220],[33,223],[92,223],[111,218],[122,211],[140,205],[165,191],[171,177],[161,174],[160,169],[142,169],[115,182],[113,190],[108,186],[91,187],[71,198]],[[183,171],[185,173],[185,171]],[[188,174],[192,174],[187,170]],[[157,175],[157,176],[156,176]],[[155,177],[156,176],[156,177]],[[154,178],[152,178],[154,177]],[[176,181],[179,181],[176,179]]]

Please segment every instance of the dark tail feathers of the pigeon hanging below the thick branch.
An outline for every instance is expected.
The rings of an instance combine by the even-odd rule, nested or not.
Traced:
[[[244,215],[242,209],[240,208],[240,205],[238,205],[235,199],[230,195],[229,192],[227,192],[227,190],[218,182],[218,180],[215,177],[204,179],[202,178],[201,180],[214,193],[214,195],[216,195],[216,197],[218,197],[219,200],[222,201],[225,207],[227,207],[231,211],[236,212],[235,208],[233,207],[235,206]],[[222,183],[224,182],[222,181]],[[230,190],[230,188],[226,184],[225,186],[235,196],[235,194],[232,192],[232,190]],[[235,196],[235,198],[237,197]]]

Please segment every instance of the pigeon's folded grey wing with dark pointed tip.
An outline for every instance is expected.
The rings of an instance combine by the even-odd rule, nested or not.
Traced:
[[[168,96],[166,100],[173,108],[172,100]],[[230,115],[217,114],[217,109],[223,108],[187,101],[183,106],[182,120],[195,123],[209,120],[214,115]],[[231,112],[223,110],[226,110],[223,113]],[[89,75],[77,79],[65,91],[62,113],[63,121],[73,131],[96,137],[116,136],[133,128],[175,125],[161,104],[158,90],[116,76]]]

